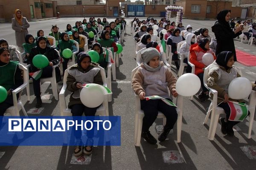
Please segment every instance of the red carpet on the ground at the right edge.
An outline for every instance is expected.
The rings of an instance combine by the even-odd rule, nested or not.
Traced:
[[[256,66],[256,56],[248,54],[246,52],[236,50],[236,59],[243,65],[246,66]]]

